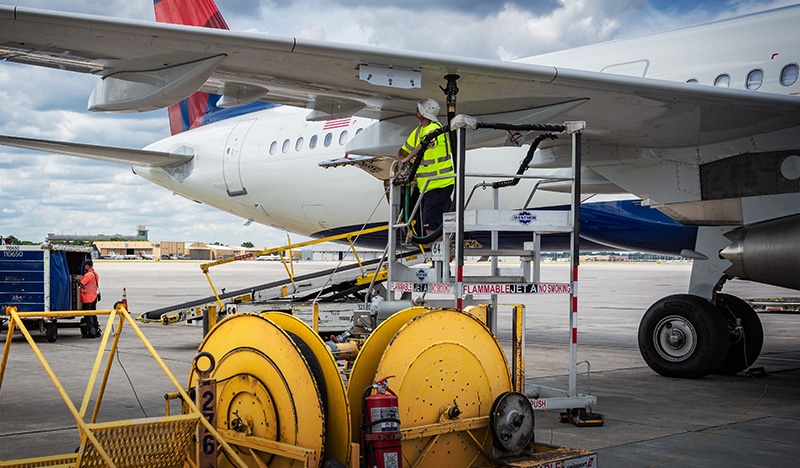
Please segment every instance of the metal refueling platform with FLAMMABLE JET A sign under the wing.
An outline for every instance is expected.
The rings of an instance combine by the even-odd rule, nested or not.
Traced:
[[[572,171],[571,175],[562,174],[553,177],[536,176],[536,179],[544,179],[537,182],[533,191],[542,184],[548,183],[571,183],[571,203],[569,210],[536,210],[529,209],[528,205],[533,196],[533,192],[518,210],[500,210],[498,190],[510,185],[510,181],[501,183],[478,184],[478,186],[492,186],[493,208],[492,209],[467,209],[470,199],[465,200],[465,180],[467,176],[480,177],[486,179],[506,179],[511,177],[514,184],[519,179],[532,178],[518,171],[517,174],[467,174],[466,151],[462,142],[466,141],[467,127],[472,129],[496,128],[509,131],[539,131],[557,132],[571,137],[572,143]],[[436,304],[437,307],[449,303],[450,307],[464,310],[465,306],[476,304],[478,301],[473,299],[476,294],[490,294],[492,307],[487,315],[487,326],[492,332],[497,334],[497,297],[498,294],[569,294],[570,296],[570,359],[569,359],[569,388],[560,390],[539,385],[528,386],[524,384],[524,353],[515,357],[515,363],[521,366],[520,391],[528,395],[534,409],[566,410],[561,413],[564,422],[573,422],[578,426],[602,425],[601,415],[591,412],[591,408],[597,403],[597,398],[593,395],[579,394],[577,391],[577,314],[578,314],[578,264],[579,264],[579,235],[580,235],[580,157],[581,157],[581,131],[585,128],[585,122],[566,122],[563,125],[509,125],[494,122],[478,122],[473,117],[456,116],[451,120],[451,132],[457,130],[458,144],[455,146],[458,152],[457,163],[455,165],[455,209],[454,212],[445,213],[443,217],[442,236],[439,240],[430,244],[427,255],[432,261],[431,268],[408,267],[397,261],[395,249],[389,250],[388,259],[388,280],[387,280],[387,300],[395,300],[397,294],[402,298],[408,298],[414,294],[443,294],[452,296],[452,300],[440,299],[439,301],[426,301]],[[452,135],[452,133],[451,133]],[[427,136],[426,136],[427,138]],[[540,141],[537,139],[537,143]],[[526,158],[524,165],[530,160],[535,147],[531,148],[529,157]],[[420,152],[422,153],[422,152]],[[422,158],[423,156],[418,156]],[[417,164],[418,165],[418,164]],[[402,180],[401,183],[408,183],[409,178]],[[396,178],[397,179],[397,178]],[[395,179],[395,180],[396,180]],[[391,209],[389,214],[389,245],[398,244],[398,233],[403,229],[410,229],[408,222],[401,221],[403,218],[400,209],[400,190],[397,182],[393,180],[391,188]],[[473,192],[475,190],[473,188]],[[424,192],[424,189],[423,189]],[[423,197],[421,195],[420,197]],[[471,194],[470,194],[471,198]],[[414,208],[416,211],[420,203]],[[410,219],[411,216],[408,216]],[[393,220],[395,220],[393,222]],[[465,241],[467,233],[471,232],[490,232],[491,245],[489,248],[468,248]],[[501,248],[499,234],[501,232],[528,232],[531,240],[525,242],[522,249]],[[570,278],[563,283],[542,283],[540,282],[540,239],[547,234],[569,234],[570,235]],[[491,259],[491,270],[488,276],[467,276],[464,274],[464,258],[466,256],[488,257]],[[499,266],[499,259],[503,257],[518,257],[520,267],[516,269],[504,269]],[[451,262],[455,260],[455,271],[451,272]],[[427,266],[427,265],[426,265]],[[441,296],[440,296],[441,297]],[[415,301],[416,302],[416,301]],[[521,330],[518,333],[515,349],[524,350],[525,340],[525,314],[516,314],[515,328]]]

